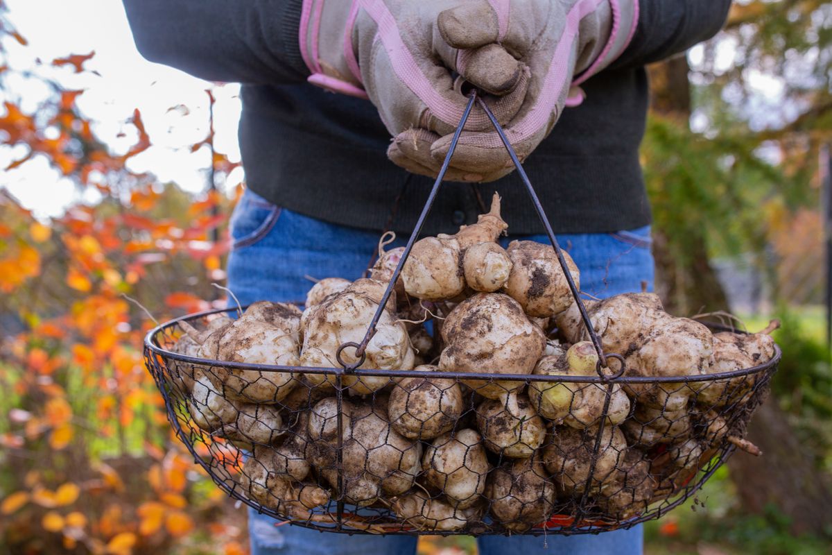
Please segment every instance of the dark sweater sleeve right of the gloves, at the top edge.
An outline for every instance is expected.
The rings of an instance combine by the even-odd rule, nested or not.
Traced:
[[[611,67],[635,67],[685,52],[722,28],[730,0],[639,0],[636,33]]]

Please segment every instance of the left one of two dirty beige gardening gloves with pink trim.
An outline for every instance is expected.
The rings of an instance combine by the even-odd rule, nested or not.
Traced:
[[[439,32],[439,14],[460,7],[471,24],[446,25]],[[309,81],[369,98],[395,137],[391,159],[428,175],[436,174],[431,144],[453,134],[468,104],[464,82],[490,93],[486,102],[503,123],[527,97],[527,68],[498,37],[497,12],[488,2],[470,0],[304,0],[300,20]],[[465,129],[483,132],[492,126],[477,108]],[[403,141],[412,142],[408,155],[397,146]],[[423,151],[414,156],[418,149]],[[448,178],[477,181],[467,173],[454,170]]]

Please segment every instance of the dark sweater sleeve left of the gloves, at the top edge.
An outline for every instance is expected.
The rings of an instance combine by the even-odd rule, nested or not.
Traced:
[[[143,57],[208,81],[303,82],[301,0],[123,0]]]

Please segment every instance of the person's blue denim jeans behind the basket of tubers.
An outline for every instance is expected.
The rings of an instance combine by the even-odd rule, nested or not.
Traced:
[[[509,225],[511,222],[508,222]],[[228,260],[228,286],[240,302],[304,300],[308,278],[358,279],[367,268],[379,233],[333,225],[270,204],[245,191],[231,216],[234,246]],[[396,245],[406,240],[401,237]],[[547,242],[542,235],[514,239]],[[653,283],[650,228],[617,233],[558,235],[561,246],[581,269],[581,290],[607,297],[641,290]],[[391,247],[394,245],[390,245]],[[297,526],[275,528],[275,521],[249,513],[251,555],[414,555],[411,536],[345,536]],[[481,555],[570,553],[635,555],[641,553],[641,527],[597,536],[486,536],[478,538]]]

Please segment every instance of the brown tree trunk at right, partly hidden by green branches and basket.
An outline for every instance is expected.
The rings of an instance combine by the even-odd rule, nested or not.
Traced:
[[[651,109],[688,125],[691,93],[685,57],[649,68]],[[656,258],[656,292],[666,310],[676,315],[730,310],[725,290],[708,262],[706,238],[696,229],[686,234],[685,245],[670,245],[665,230],[653,232]],[[686,256],[675,256],[684,248]],[[777,379],[775,375],[774,379]],[[827,533],[832,514],[830,487],[823,483],[810,453],[800,445],[776,399],[762,404],[751,420],[748,439],[760,447],[762,457],[735,453],[728,468],[742,508],[762,513],[773,505],[792,519],[795,533]]]

